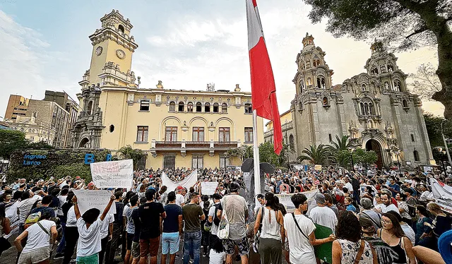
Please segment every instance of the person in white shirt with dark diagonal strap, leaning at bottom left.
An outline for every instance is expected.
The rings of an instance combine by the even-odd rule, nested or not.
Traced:
[[[14,240],[14,245],[20,253],[18,263],[44,263],[45,260],[49,260],[50,245],[57,239],[57,224],[49,220],[50,214],[47,212],[43,212],[40,219]],[[27,244],[22,248],[20,241],[27,236]]]

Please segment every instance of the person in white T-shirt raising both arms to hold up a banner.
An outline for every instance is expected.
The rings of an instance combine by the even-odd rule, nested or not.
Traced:
[[[99,263],[99,254],[97,253],[102,250],[100,241],[102,221],[107,216],[115,199],[115,196],[110,197],[109,203],[100,217],[100,210],[97,208],[87,210],[82,217],[78,209],[77,196],[72,198],[74,211],[76,212],[78,234],[80,235],[77,244],[77,263]]]

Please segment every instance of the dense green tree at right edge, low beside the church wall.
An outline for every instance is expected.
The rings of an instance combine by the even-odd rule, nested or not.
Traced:
[[[438,146],[444,147],[443,137],[441,136],[441,123],[444,121],[444,118],[427,113],[424,114],[424,121],[427,128],[427,134],[429,135],[430,146],[432,146],[432,148]],[[443,128],[444,136],[446,138],[452,138],[452,122],[444,122]]]

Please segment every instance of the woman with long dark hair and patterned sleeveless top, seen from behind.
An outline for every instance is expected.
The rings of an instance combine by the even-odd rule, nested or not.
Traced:
[[[337,240],[333,241],[333,263],[377,264],[376,253],[369,242],[361,239],[361,225],[351,211],[341,212],[336,227]]]

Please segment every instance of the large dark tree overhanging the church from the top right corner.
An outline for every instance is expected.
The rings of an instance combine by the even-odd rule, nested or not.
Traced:
[[[450,0],[304,0],[313,23],[328,19],[334,37],[374,40],[403,51],[426,45],[438,49],[436,74],[441,90],[432,98],[444,104],[452,119],[452,2]]]

